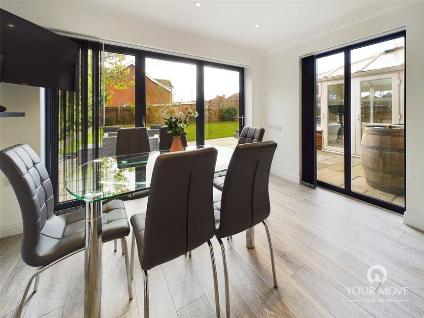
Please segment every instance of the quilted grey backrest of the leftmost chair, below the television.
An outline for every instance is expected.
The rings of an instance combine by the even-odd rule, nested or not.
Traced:
[[[26,144],[1,150],[0,168],[9,179],[21,208],[24,227],[21,254],[24,262],[31,265],[39,258],[35,248],[40,232],[53,215],[52,183],[41,159]]]

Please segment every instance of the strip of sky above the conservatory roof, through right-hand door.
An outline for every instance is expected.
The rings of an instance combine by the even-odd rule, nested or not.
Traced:
[[[392,49],[396,46],[404,45],[404,38],[400,37],[386,42],[368,45],[351,51],[351,61],[359,61],[361,59],[376,55],[385,50]],[[344,54],[334,54],[320,58],[317,60],[318,74],[336,68],[344,64]]]

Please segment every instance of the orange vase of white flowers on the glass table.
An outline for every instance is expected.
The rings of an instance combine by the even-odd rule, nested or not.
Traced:
[[[198,116],[197,112],[188,106],[184,108],[169,107],[161,110],[161,116],[165,121],[165,125],[168,127],[168,133],[174,137],[170,151],[184,150],[181,143],[181,135],[187,135],[186,128]]]

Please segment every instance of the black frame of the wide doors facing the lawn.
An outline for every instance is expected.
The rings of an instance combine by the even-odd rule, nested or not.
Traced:
[[[208,62],[176,55],[151,52],[117,45],[104,45],[104,51],[135,56],[135,127],[144,127],[146,118],[146,58],[196,65],[196,144],[204,145],[204,67],[215,67],[239,72],[239,116],[244,117],[244,68]],[[144,75],[144,76],[143,76]],[[245,122],[245,121],[244,121]],[[240,131],[244,124],[239,119]]]

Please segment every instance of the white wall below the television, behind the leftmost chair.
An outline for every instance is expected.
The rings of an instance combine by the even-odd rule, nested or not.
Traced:
[[[25,112],[25,117],[0,118],[0,149],[29,144],[38,154],[41,148],[40,89],[16,84],[0,84],[0,104],[8,112]],[[0,174],[0,237],[22,232],[18,201],[7,180]]]

